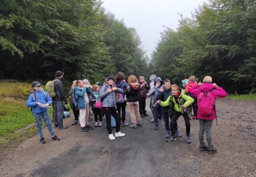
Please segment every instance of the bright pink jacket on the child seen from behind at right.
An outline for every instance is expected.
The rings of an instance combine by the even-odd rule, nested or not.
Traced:
[[[207,91],[213,89],[213,85],[211,85],[211,83],[203,83],[203,85],[201,85],[200,88],[203,92],[207,92]],[[190,92],[190,94],[192,94],[192,96],[195,96],[196,98],[198,98],[198,94],[200,94],[198,85],[194,85],[192,88],[190,88],[189,92]],[[228,95],[225,92],[225,90],[223,90],[223,88],[221,88],[219,86],[216,89],[214,88],[214,90],[211,92],[211,94],[213,94],[215,99],[216,98],[224,98],[225,96]],[[213,115],[211,115],[209,117],[203,117],[199,113],[197,116],[198,116],[198,119],[213,120],[213,119],[216,119],[216,111]]]

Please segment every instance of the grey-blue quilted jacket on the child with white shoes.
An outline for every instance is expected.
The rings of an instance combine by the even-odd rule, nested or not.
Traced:
[[[123,94],[123,90],[117,87],[116,91],[108,92],[108,88],[112,87],[110,85],[103,85],[100,89],[99,97],[102,100],[102,107],[116,108],[116,92]]]

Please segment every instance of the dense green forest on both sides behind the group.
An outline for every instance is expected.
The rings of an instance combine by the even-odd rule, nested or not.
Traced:
[[[103,81],[156,74],[172,83],[205,75],[229,93],[256,92],[256,3],[210,0],[179,28],[161,33],[146,56],[135,28],[96,0],[3,0],[0,7],[0,79],[31,82],[64,71],[74,79]],[[66,83],[66,81],[68,81]]]

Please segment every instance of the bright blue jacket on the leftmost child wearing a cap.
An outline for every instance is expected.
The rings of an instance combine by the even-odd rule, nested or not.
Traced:
[[[35,91],[34,93],[35,93],[35,101],[33,101],[33,94],[31,93],[26,102],[26,106],[32,107],[33,113],[46,112],[47,108],[38,107],[35,102],[39,102],[41,104],[47,104],[47,103],[52,104],[53,101],[52,101],[51,97],[49,96],[49,94],[47,92],[45,92],[45,94],[44,94],[43,90]]]

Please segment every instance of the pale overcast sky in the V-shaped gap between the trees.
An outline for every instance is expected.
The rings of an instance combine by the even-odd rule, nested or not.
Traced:
[[[176,31],[179,20],[191,18],[192,12],[207,0],[102,0],[107,11],[115,14],[128,28],[135,28],[148,57],[156,50],[166,28]]]

